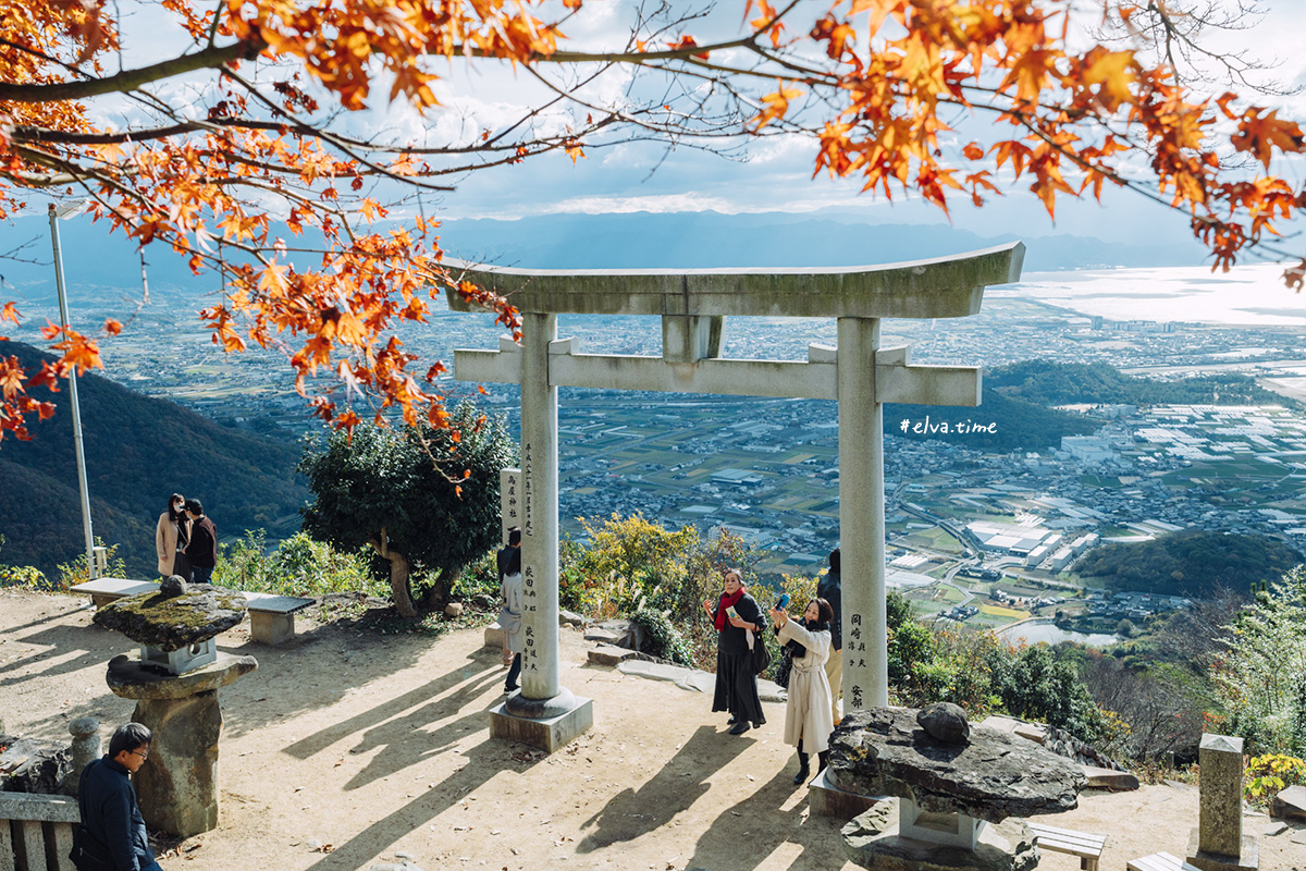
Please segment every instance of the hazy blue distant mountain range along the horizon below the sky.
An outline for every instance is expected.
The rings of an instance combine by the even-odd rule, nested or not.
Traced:
[[[1181,266],[1203,262],[1192,239],[1157,234],[1136,244],[1091,236],[1025,236],[1025,272],[1107,266]],[[71,291],[81,295],[128,291],[140,295],[141,264],[136,245],[104,222],[81,217],[60,222]],[[290,238],[289,232],[282,234]],[[1017,239],[1004,232],[978,235],[948,225],[865,223],[838,212],[721,214],[716,212],[558,214],[517,221],[447,221],[439,230],[449,256],[538,269],[691,269],[722,266],[855,266],[956,255]],[[24,217],[4,227],[8,251],[22,260],[0,260],[0,299],[54,298],[50,225]],[[151,293],[171,296],[213,291],[217,277],[193,276],[165,245],[145,251]],[[303,255],[306,262],[308,255]],[[26,261],[35,262],[26,262]],[[188,304],[199,307],[200,300]]]

